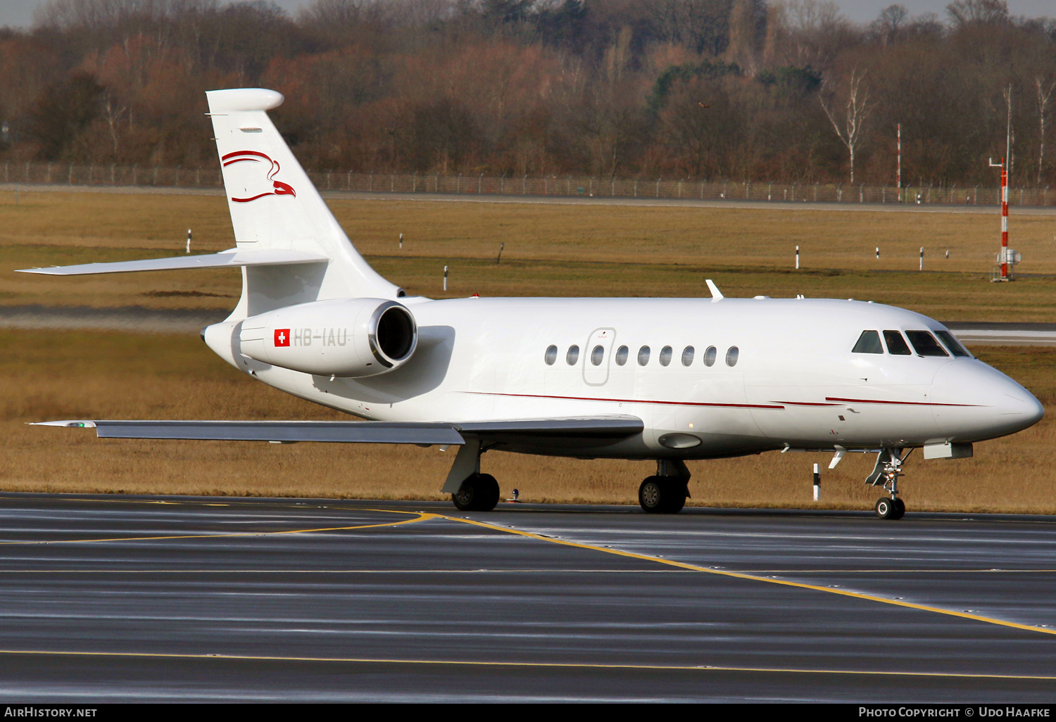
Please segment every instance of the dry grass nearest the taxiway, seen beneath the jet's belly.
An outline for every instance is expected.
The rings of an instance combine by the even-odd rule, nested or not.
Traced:
[[[90,430],[29,426],[63,418],[337,419],[235,372],[194,337],[0,332],[0,489],[366,498],[441,498],[453,452],[373,444],[97,439]],[[1056,349],[980,347],[1049,410],[1036,426],[976,445],[973,459],[914,454],[902,484],[916,510],[1056,512]],[[691,462],[692,504],[808,507],[811,466],[828,456],[762,454]],[[865,509],[873,459],[849,455],[823,477],[823,508]],[[636,504],[653,464],[492,452],[505,493],[529,501]]]

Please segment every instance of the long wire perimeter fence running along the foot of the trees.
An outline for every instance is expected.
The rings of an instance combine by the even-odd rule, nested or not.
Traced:
[[[903,203],[916,205],[1000,204],[997,186],[867,186],[842,184],[784,184],[762,180],[679,180],[663,178],[602,178],[598,176],[494,177],[399,173],[309,171],[322,191],[367,193],[441,193],[458,195],[622,197],[700,201],[768,201],[778,203]],[[184,169],[139,166],[74,166],[48,163],[5,163],[5,184],[71,186],[139,186],[220,188],[219,169]],[[1012,206],[1056,205],[1056,190],[1010,188]]]

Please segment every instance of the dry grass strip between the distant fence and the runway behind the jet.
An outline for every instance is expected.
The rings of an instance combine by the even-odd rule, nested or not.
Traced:
[[[0,303],[229,309],[229,270],[45,278],[30,266],[118,261],[233,245],[222,196],[0,193]],[[855,298],[942,320],[1054,321],[1056,278],[988,283],[998,216],[404,201],[334,201],[348,235],[412,293]],[[402,251],[396,240],[404,233]],[[1056,217],[1014,216],[1024,273],[1056,274]],[[503,263],[494,263],[499,243]],[[794,248],[802,269],[795,271]],[[874,248],[880,246],[878,262]],[[925,271],[918,249],[926,247]],[[945,250],[950,251],[949,260]]]

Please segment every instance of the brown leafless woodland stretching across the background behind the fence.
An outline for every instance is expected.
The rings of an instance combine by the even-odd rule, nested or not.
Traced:
[[[0,30],[5,162],[215,168],[204,91],[274,88],[312,170],[1056,180],[1056,20],[826,0],[52,0]]]

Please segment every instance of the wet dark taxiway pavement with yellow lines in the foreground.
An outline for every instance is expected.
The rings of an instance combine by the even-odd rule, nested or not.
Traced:
[[[1054,517],[2,494],[0,580],[5,701],[1056,690]]]

